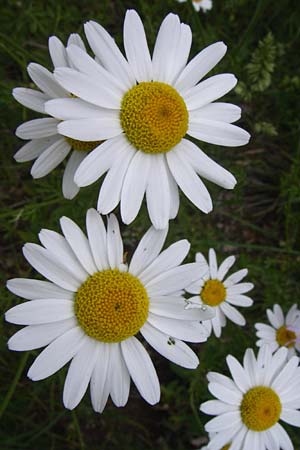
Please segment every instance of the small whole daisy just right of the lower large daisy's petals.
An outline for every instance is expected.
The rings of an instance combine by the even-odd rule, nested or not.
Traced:
[[[196,262],[204,264],[207,271],[204,275],[199,274],[198,280],[186,289],[190,294],[197,294],[187,300],[186,309],[203,309],[210,306],[215,310],[215,317],[203,322],[209,335],[213,330],[215,336],[220,337],[222,327],[226,325],[226,318],[244,326],[246,320],[235,306],[248,307],[253,304],[253,300],[244,294],[253,289],[254,285],[240,283],[248,274],[248,269],[239,270],[225,278],[235,262],[235,257],[229,256],[218,268],[213,248],[209,250],[208,262],[202,253],[196,254]]]

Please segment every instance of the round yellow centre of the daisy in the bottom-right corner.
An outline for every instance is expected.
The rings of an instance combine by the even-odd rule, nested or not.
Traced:
[[[264,431],[278,422],[281,402],[273,389],[257,386],[249,389],[240,406],[242,421],[253,431]]]

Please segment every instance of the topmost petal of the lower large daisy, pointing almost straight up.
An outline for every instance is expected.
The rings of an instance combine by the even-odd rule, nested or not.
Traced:
[[[109,268],[107,257],[106,230],[100,214],[89,209],[86,214],[86,229],[91,252],[99,270]]]

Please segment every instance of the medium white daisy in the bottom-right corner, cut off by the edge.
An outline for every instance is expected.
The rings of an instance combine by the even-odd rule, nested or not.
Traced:
[[[231,355],[227,365],[232,379],[219,373],[208,374],[208,389],[217,400],[200,406],[206,414],[216,415],[205,429],[217,433],[209,450],[293,450],[293,444],[280,420],[300,426],[299,358],[287,362],[286,348],[272,355],[268,346],[257,359],[251,349],[243,366]],[[226,448],[226,447],[225,447]]]

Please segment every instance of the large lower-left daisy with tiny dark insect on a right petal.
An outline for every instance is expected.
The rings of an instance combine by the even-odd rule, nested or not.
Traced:
[[[185,311],[182,290],[205,271],[203,264],[181,262],[189,243],[181,240],[162,253],[167,230],[153,227],[134,252],[129,267],[123,262],[123,243],[116,217],[107,230],[96,210],[86,216],[87,235],[67,217],[60,220],[63,235],[43,229],[42,246],[26,244],[27,261],[45,278],[8,281],[8,289],[30,301],[11,308],[6,320],[27,325],[8,342],[11,350],[46,349],[30,367],[32,380],[49,377],[72,360],[63,401],[75,408],[90,383],[95,411],[110,395],[117,406],[126,404],[130,377],[142,397],[154,404],[160,385],[153,363],[138,332],[159,353],[186,368],[198,358],[181,341],[203,342],[205,329],[198,317]]]

